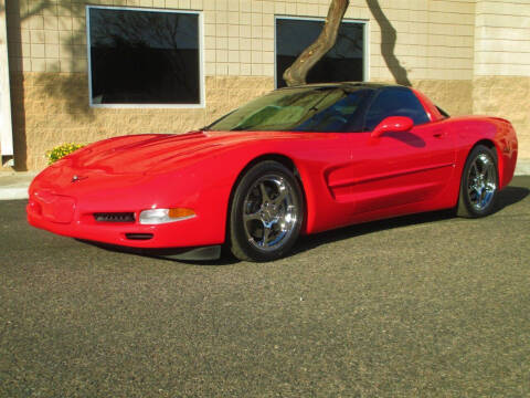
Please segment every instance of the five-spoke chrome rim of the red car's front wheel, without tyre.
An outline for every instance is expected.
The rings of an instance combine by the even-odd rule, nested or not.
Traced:
[[[256,180],[243,202],[243,228],[248,243],[273,251],[288,241],[298,218],[294,187],[280,175],[269,174]]]

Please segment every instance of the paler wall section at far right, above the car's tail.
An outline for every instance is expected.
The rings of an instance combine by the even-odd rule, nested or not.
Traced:
[[[508,118],[530,158],[530,0],[477,0],[474,113]]]

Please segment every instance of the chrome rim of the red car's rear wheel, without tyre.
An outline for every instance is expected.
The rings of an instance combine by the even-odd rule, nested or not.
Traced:
[[[471,163],[467,176],[467,197],[476,211],[484,211],[494,200],[497,190],[497,170],[494,159],[486,153]]]

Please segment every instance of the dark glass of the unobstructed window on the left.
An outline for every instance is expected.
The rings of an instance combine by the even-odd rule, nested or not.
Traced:
[[[88,9],[93,104],[199,104],[199,14]]]

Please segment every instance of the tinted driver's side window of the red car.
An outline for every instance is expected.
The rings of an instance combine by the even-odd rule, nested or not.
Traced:
[[[381,121],[389,116],[407,116],[414,121],[414,125],[430,122],[416,96],[410,90],[401,87],[385,88],[379,93],[368,109],[364,130],[373,130]]]

